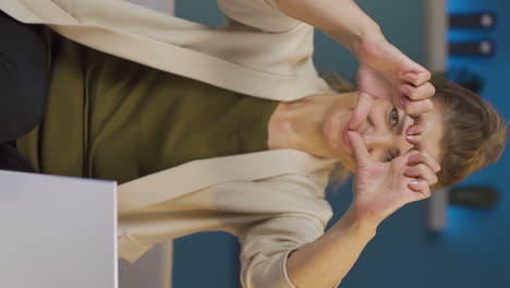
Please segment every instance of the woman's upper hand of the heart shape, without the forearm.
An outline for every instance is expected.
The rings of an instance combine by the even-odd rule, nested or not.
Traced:
[[[366,39],[359,47],[357,85],[360,97],[349,122],[356,130],[365,120],[373,99],[386,99],[409,116],[415,124],[425,124],[425,115],[433,108],[435,94],[428,82],[430,72],[403,55],[384,38]]]

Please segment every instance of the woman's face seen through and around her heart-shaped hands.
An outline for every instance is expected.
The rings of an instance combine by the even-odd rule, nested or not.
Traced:
[[[345,116],[345,110],[332,109],[324,122],[324,135],[332,155],[339,158],[348,168],[354,168],[353,153],[347,136],[348,121],[351,110]],[[396,108],[386,100],[375,100],[368,112],[368,117],[357,132],[363,136],[368,153],[377,161],[390,161],[404,154],[413,146],[405,139],[405,130],[414,120],[403,110]],[[421,135],[421,143],[436,159],[440,156],[440,139],[442,135],[441,115],[434,107],[427,116],[425,130]]]

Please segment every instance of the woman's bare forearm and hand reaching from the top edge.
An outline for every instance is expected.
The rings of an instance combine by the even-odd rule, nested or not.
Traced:
[[[377,23],[353,0],[274,1],[281,12],[328,34],[360,61],[360,97],[349,123],[351,130],[365,121],[374,98],[392,101],[413,118],[430,111],[428,98],[435,93],[428,83],[430,73],[388,43]]]

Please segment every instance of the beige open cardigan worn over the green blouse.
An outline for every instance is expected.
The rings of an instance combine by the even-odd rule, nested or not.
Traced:
[[[197,1],[198,2],[198,1]],[[118,0],[1,0],[0,10],[74,41],[156,69],[277,100],[330,93],[312,62],[313,27],[272,0],[218,0],[229,25],[211,28]],[[333,161],[292,149],[192,161],[119,187],[119,254],[226,230],[242,244],[245,287],[294,287],[287,255],[319,237]]]

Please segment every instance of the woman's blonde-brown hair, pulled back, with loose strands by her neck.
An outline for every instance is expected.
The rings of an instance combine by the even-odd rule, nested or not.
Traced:
[[[321,76],[338,93],[353,92],[354,85],[336,72]],[[444,135],[440,141],[441,170],[434,189],[451,187],[472,172],[495,164],[502,155],[507,141],[507,124],[501,116],[475,93],[438,75],[430,83],[436,88],[433,103],[441,109]],[[341,166],[331,175],[342,182],[349,171]]]

